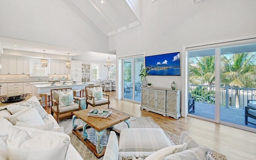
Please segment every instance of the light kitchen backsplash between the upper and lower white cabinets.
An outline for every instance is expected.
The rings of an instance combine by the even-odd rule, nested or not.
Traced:
[[[62,80],[65,76],[66,80],[70,79],[68,74],[50,74],[48,77],[30,77],[29,74],[0,74],[0,82],[26,82],[26,81],[48,81],[53,80],[53,78],[58,78]]]

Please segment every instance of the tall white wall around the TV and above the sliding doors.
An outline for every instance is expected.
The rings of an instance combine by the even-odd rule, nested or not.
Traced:
[[[116,62],[124,55],[182,52],[183,45],[256,33],[255,0],[203,0],[196,4],[193,0],[142,0],[141,6],[140,26],[109,37],[109,50],[116,50]],[[181,59],[181,65],[183,62]],[[147,80],[164,88],[171,88],[175,81],[178,90],[184,85],[182,76],[148,76]]]

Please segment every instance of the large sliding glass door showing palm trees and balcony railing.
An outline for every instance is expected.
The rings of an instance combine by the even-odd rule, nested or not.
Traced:
[[[188,115],[255,132],[256,43],[198,48],[187,52]]]

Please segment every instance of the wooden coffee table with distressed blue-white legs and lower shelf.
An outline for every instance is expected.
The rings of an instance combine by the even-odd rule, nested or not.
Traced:
[[[107,108],[103,108],[101,106],[98,107],[94,107],[93,109],[97,109],[97,110],[110,110]],[[121,113],[118,112],[114,112],[113,110],[112,113],[107,117],[107,118],[99,118],[99,117],[92,117],[92,116],[88,116],[87,113],[92,110],[92,108],[90,109],[86,109],[86,110],[80,110],[80,111],[76,111],[73,112],[73,130],[72,132],[88,147],[90,148],[90,150],[98,157],[100,158],[101,156],[104,155],[106,147],[102,147],[100,145],[100,139],[103,135],[103,133],[105,132],[105,130],[107,128],[111,128],[112,130],[114,130],[115,132],[120,133],[119,130],[113,128],[113,126],[115,124],[118,124],[120,122],[126,122],[126,124],[128,125],[128,128],[130,128],[130,122],[129,122],[129,116],[123,115]],[[74,124],[75,119],[79,118],[83,121],[83,126],[77,128],[77,125]],[[88,140],[88,135],[86,133],[86,127],[92,127],[95,129],[96,132],[96,137],[98,140],[98,144],[95,146],[92,142],[90,142],[90,140]],[[83,134],[80,132],[83,130]]]

